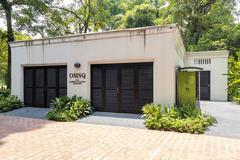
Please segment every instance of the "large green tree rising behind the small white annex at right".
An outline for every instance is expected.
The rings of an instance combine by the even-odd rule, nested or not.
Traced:
[[[236,53],[239,48],[239,28],[232,14],[234,0],[168,2],[167,7],[160,9],[160,16],[155,23],[178,23],[188,51],[230,49]]]

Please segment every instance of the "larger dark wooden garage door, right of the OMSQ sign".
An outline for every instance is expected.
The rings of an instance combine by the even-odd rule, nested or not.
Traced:
[[[153,64],[92,65],[91,101],[98,111],[140,113],[153,101]]]

